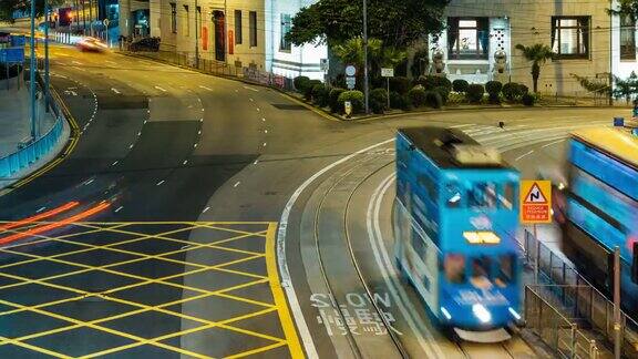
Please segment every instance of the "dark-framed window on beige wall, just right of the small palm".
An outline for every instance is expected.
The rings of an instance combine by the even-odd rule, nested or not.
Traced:
[[[589,17],[552,18],[552,50],[558,59],[588,59]]]

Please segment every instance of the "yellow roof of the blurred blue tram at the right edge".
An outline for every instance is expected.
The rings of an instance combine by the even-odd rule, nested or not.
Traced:
[[[638,168],[638,137],[628,132],[609,127],[594,127],[575,131],[572,135],[580,142]]]

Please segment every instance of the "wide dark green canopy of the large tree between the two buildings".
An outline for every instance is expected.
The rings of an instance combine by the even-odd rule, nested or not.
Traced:
[[[370,38],[388,48],[405,49],[429,33],[443,30],[450,0],[368,0]],[[286,35],[295,45],[341,44],[363,32],[362,1],[319,0],[302,8]]]

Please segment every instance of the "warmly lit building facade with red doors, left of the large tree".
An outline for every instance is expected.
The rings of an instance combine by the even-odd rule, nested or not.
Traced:
[[[285,40],[292,17],[309,0],[120,0],[124,35],[136,35],[135,13],[147,9],[148,34],[161,50],[253,68],[289,78],[323,79],[325,45],[294,47]],[[121,21],[122,22],[122,21]]]

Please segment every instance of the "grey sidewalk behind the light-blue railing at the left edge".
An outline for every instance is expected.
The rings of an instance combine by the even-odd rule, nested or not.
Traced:
[[[21,143],[31,140],[29,88],[12,84],[11,90],[0,89],[0,158],[18,151]],[[55,123],[52,113],[44,112],[44,100],[38,101],[35,109],[39,126],[38,135],[45,134]]]

